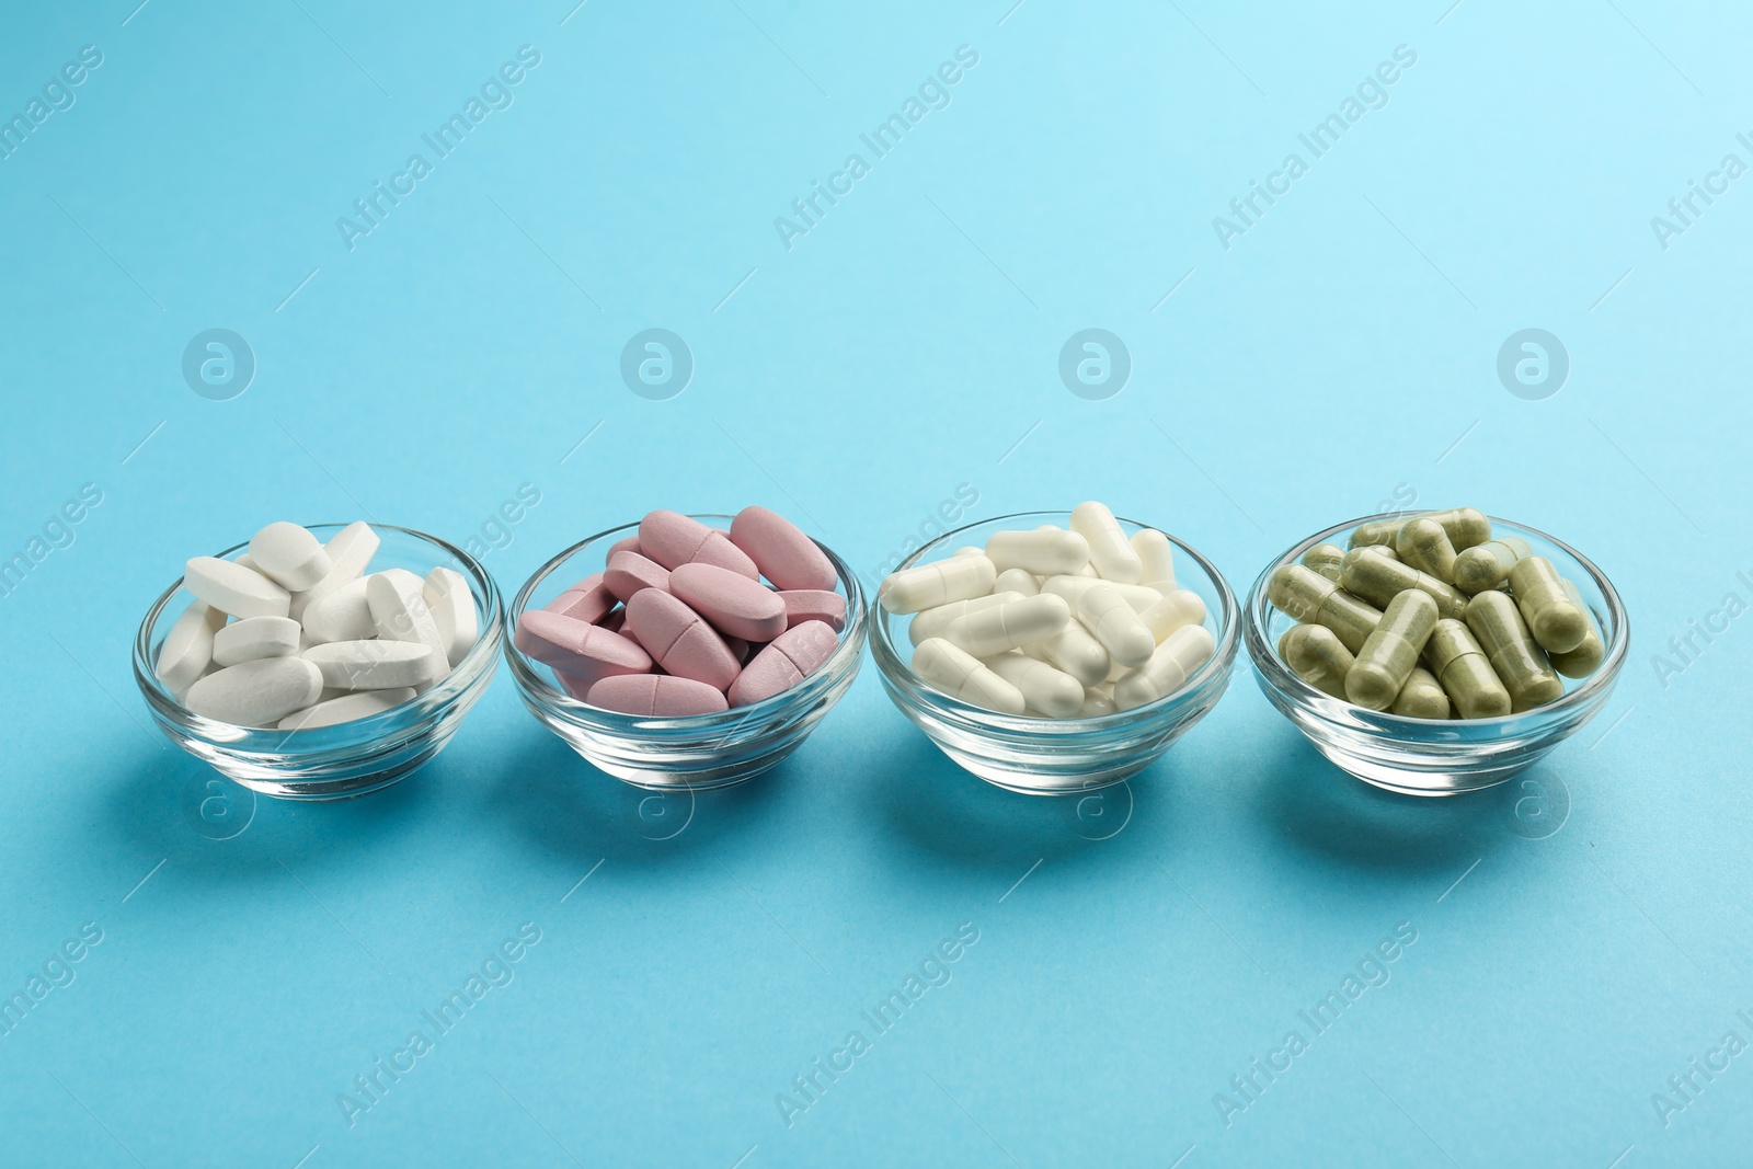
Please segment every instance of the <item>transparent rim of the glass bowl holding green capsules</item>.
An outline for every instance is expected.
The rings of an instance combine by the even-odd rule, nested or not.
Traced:
[[[1592,706],[1606,691],[1609,691],[1618,678],[1620,668],[1625,664],[1625,655],[1630,647],[1630,622],[1625,605],[1620,599],[1618,589],[1608,578],[1600,568],[1595,566],[1592,559],[1572,549],[1564,540],[1548,535],[1537,528],[1527,524],[1518,524],[1511,519],[1502,519],[1499,515],[1487,515],[1492,521],[1494,538],[1502,528],[1508,535],[1527,533],[1536,536],[1560,550],[1564,550],[1571,559],[1574,559],[1595,589],[1600,592],[1602,603],[1608,608],[1609,629],[1604,631],[1608,636],[1606,654],[1595,673],[1578,684],[1576,689],[1567,691],[1564,698],[1553,699],[1532,710],[1523,710],[1520,713],[1494,715],[1488,719],[1416,719],[1413,715],[1395,715],[1387,710],[1367,710],[1353,703],[1318,691],[1302,678],[1297,677],[1294,670],[1281,657],[1278,657],[1278,647],[1273,643],[1267,633],[1271,626],[1271,617],[1276,606],[1267,598],[1267,591],[1276,573],[1285,564],[1295,564],[1302,559],[1302,554],[1313,549],[1317,543],[1331,543],[1332,536],[1350,533],[1360,524],[1371,524],[1378,521],[1390,521],[1395,517],[1415,517],[1422,512],[1376,512],[1374,515],[1360,515],[1359,519],[1346,521],[1343,524],[1334,524],[1325,531],[1318,531],[1313,536],[1294,545],[1288,552],[1274,559],[1266,570],[1255,578],[1253,587],[1248,591],[1246,601],[1246,643],[1248,657],[1253,659],[1253,668],[1260,671],[1274,689],[1283,692],[1287,698],[1295,701],[1299,706],[1309,708],[1315,713],[1324,715],[1332,722],[1345,722],[1348,726],[1357,726],[1360,722],[1369,724],[1373,729],[1392,734],[1397,729],[1408,738],[1418,738],[1420,734],[1429,734],[1432,729],[1457,731],[1467,727],[1471,731],[1481,733],[1481,736],[1492,736],[1494,733],[1511,734],[1522,731],[1529,720],[1550,720],[1553,717],[1564,717]]]

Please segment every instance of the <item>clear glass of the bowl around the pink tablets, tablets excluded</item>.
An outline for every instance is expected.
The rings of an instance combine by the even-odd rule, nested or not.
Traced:
[[[729,515],[694,515],[710,528],[729,528]],[[603,570],[608,545],[638,535],[638,522],[580,540],[524,582],[512,601],[510,627],[529,608],[542,608],[570,585]],[[594,768],[649,790],[712,790],[731,787],[777,766],[810,738],[859,673],[864,648],[864,592],[857,575],[833,549],[817,542],[840,575],[847,624],[840,645],[808,678],[763,703],[710,715],[640,717],[589,706],[554,684],[547,666],[505,638],[517,694],[549,731]]]

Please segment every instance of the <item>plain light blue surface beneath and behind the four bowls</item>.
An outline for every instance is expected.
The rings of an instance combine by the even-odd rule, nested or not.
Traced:
[[[26,117],[102,53],[0,158],[0,554],[33,561],[0,596],[0,990],[47,969],[0,1036],[0,1160],[1746,1162],[1753,179],[1711,179],[1753,163],[1746,11],[135,4],[0,40]],[[859,135],[959,46],[878,158]],[[415,152],[370,233],[337,226]],[[1213,217],[1290,152],[1225,249]],[[817,181],[850,193],[787,249]],[[1690,181],[1727,193],[1658,231]],[[212,328],[256,363],[228,401],[182,373]],[[694,361],[668,400],[619,372],[650,328]],[[1059,377],[1085,328],[1124,338],[1117,396]],[[1562,338],[1555,396],[1497,377],[1525,328]],[[1238,592],[1381,503],[1476,505],[1592,556],[1632,655],[1478,797],[1346,780],[1246,666],[1108,801],[1010,796],[866,668],[764,780],[643,813],[503,677],[393,790],[209,790],[128,670],[181,561],[270,519],[475,535],[510,591],[649,508],[754,501],[875,575],[957,491],[1106,499]],[[363,1108],[379,1059],[412,1067]]]

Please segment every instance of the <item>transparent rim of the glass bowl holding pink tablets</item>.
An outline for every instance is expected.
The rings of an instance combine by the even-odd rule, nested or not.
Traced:
[[[699,522],[722,531],[736,517],[724,515],[720,512],[696,512],[691,514],[689,519],[698,519]],[[586,536],[584,540],[556,552],[547,559],[547,563],[529,575],[521,589],[517,589],[517,594],[512,598],[510,622],[515,626],[517,619],[529,608],[529,601],[535,598],[542,584],[573,556],[582,552],[586,547],[605,540],[636,535],[638,529],[640,521],[605,528],[603,531]],[[617,710],[591,706],[589,703],[573,698],[549,682],[549,668],[533,661],[528,654],[517,648],[514,638],[510,636],[505,638],[505,662],[510,666],[512,678],[517,682],[517,689],[522,692],[524,701],[540,703],[543,708],[564,717],[568,722],[591,731],[600,731],[603,734],[645,738],[654,741],[696,740],[699,736],[731,741],[736,740],[740,733],[764,733],[768,724],[777,715],[784,715],[794,706],[808,705],[822,692],[833,689],[834,682],[845,673],[847,666],[857,664],[857,657],[864,650],[868,613],[864,589],[859,585],[857,573],[854,573],[852,566],[847,564],[831,547],[813,536],[810,542],[820,549],[824,556],[827,556],[827,561],[834,566],[834,573],[840,577],[840,584],[847,594],[847,622],[845,627],[840,629],[838,645],[834,645],[834,652],[827,655],[827,661],[824,661],[808,678],[789,691],[775,694],[773,698],[750,703],[747,706],[717,710],[706,715],[628,715]]]

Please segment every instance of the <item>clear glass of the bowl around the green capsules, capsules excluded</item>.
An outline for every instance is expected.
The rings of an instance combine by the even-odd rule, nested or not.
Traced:
[[[1278,657],[1278,638],[1295,622],[1267,599],[1273,573],[1301,563],[1317,543],[1346,547],[1359,524],[1395,519],[1402,512],[1366,515],[1317,533],[1273,561],[1248,594],[1248,655],[1260,691],[1336,768],[1366,783],[1408,796],[1457,796],[1495,787],[1537,762],[1600,713],[1625,664],[1630,627],[1625,606],[1599,568],[1581,552],[1543,531],[1492,519],[1492,536],[1522,536],[1558,573],[1576,584],[1606,643],[1600,668],[1586,678],[1564,678],[1565,694],[1544,706],[1499,719],[1411,719],[1366,710],[1317,691]]]

